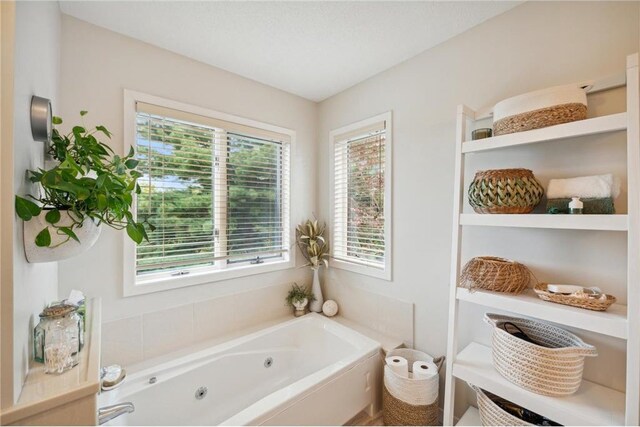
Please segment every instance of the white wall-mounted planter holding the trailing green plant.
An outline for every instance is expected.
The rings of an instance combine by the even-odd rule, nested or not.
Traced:
[[[76,227],[73,230],[78,236],[80,243],[71,239],[64,244],[57,246],[65,241],[67,236],[60,236],[56,233],[55,228],[49,227],[49,231],[51,233],[50,247],[36,246],[35,240],[38,233],[47,225],[51,225],[44,218],[47,212],[48,211],[43,210],[40,215],[33,217],[31,221],[24,222],[24,253],[27,257],[27,261],[31,263],[61,261],[63,259],[80,255],[93,246],[98,240],[98,237],[100,237],[101,228],[97,226],[91,218],[86,218],[82,223],[82,227]],[[71,226],[73,221],[69,217],[69,214],[66,211],[60,211],[60,215],[60,222],[56,225]]]

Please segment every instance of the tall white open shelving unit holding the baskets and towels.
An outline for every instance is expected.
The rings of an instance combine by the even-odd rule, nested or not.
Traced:
[[[606,90],[626,84],[627,111],[527,132],[465,141],[467,123],[486,115],[458,107],[456,163],[453,205],[449,332],[445,383],[444,424],[452,425],[455,379],[474,384],[491,393],[565,425],[638,425],[640,423],[640,84],[638,54],[627,57],[625,78],[602,80],[594,88]],[[594,90],[592,90],[594,91]],[[465,201],[464,162],[470,153],[499,150],[526,144],[626,131],[627,193],[626,215],[480,215],[463,213]],[[521,295],[500,294],[458,288],[461,270],[462,234],[466,227],[513,227],[585,230],[585,232],[627,233],[627,305],[614,304],[606,312],[595,312],[540,300],[532,291]],[[471,342],[458,346],[459,302],[506,310],[568,327],[607,335],[626,343],[626,391],[620,392],[583,380],[571,396],[547,397],[531,393],[500,375],[492,363],[491,349]],[[477,319],[481,321],[481,319]],[[458,425],[479,423],[478,410],[469,407]]]

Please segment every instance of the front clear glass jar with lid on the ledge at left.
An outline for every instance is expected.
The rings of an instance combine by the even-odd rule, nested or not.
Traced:
[[[34,359],[45,364],[45,373],[62,373],[78,364],[84,327],[77,307],[55,304],[40,313],[34,329]]]

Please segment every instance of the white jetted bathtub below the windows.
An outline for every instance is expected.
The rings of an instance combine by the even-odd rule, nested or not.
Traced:
[[[341,425],[374,404],[380,366],[379,343],[309,314],[137,372],[99,404],[135,405],[108,425]]]

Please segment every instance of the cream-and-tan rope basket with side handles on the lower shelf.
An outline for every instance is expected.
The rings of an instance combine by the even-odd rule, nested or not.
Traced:
[[[512,383],[545,396],[575,393],[582,381],[584,358],[597,356],[596,348],[574,334],[547,323],[487,313],[493,326],[493,366]],[[518,326],[530,343],[502,328],[505,322]]]

